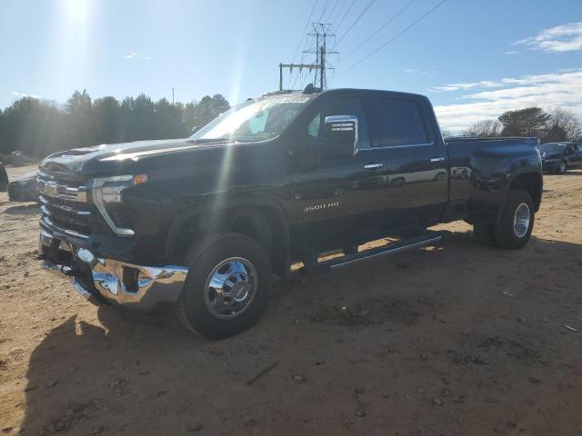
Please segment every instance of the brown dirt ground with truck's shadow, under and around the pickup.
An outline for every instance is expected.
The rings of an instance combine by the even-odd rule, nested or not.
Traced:
[[[38,219],[0,193],[0,435],[582,434],[582,172],[545,177],[521,251],[443,225],[277,284],[222,342],[85,302],[40,271]]]

